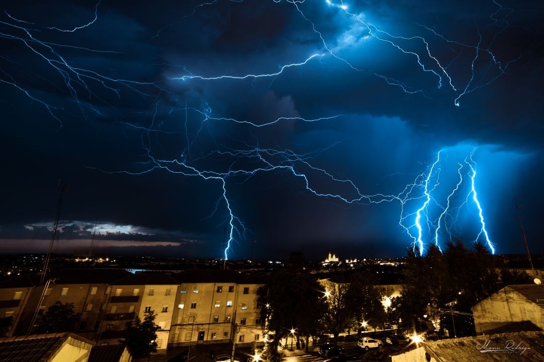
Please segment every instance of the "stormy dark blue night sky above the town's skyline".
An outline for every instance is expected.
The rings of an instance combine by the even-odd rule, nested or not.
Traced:
[[[542,1],[2,10],[2,252],[542,253]]]

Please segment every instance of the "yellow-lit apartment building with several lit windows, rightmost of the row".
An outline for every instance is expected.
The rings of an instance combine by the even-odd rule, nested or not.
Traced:
[[[236,271],[194,270],[176,274],[180,283],[169,344],[262,341],[257,289],[262,284]],[[256,323],[257,322],[257,323]]]

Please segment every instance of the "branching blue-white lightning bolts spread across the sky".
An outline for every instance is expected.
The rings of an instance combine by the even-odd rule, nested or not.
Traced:
[[[213,7],[218,0],[208,1],[201,3],[200,5],[195,5],[193,8],[193,13],[184,16],[186,18],[190,15],[196,13],[196,11],[205,11],[208,8]],[[273,0],[275,3],[279,3],[280,0]],[[233,1],[236,2],[238,1]],[[242,2],[242,1],[239,1]],[[305,67],[315,61],[322,61],[323,58],[331,57],[333,61],[339,61],[343,63],[343,67],[347,66],[349,71],[363,72],[365,74],[371,74],[372,76],[379,77],[380,79],[385,80],[387,84],[400,87],[404,92],[415,94],[422,93],[425,97],[427,90],[420,89],[421,86],[409,85],[404,81],[394,79],[393,76],[384,75],[377,73],[373,70],[367,70],[364,66],[358,65],[357,61],[360,61],[364,64],[364,59],[352,60],[349,55],[342,54],[342,50],[336,50],[335,47],[330,45],[334,40],[325,39],[326,37],[316,26],[316,22],[312,21],[310,15],[305,12],[303,9],[305,5],[304,0],[287,0],[287,3],[293,5],[293,11],[296,11],[297,16],[302,16],[305,20],[306,26],[310,24],[309,29],[306,29],[312,36],[319,38],[317,43],[319,45],[314,46],[315,48],[312,51],[306,51],[303,57],[295,60],[295,63],[290,61],[283,62],[282,66],[279,66],[277,71],[271,71],[269,68],[264,70],[262,73],[251,72],[244,74],[241,72],[241,75],[226,75],[226,74],[215,74],[212,76],[203,76],[195,75],[190,73],[189,75],[175,76],[175,77],[164,77],[164,80],[181,80],[184,86],[189,88],[192,86],[190,81],[207,81],[207,82],[217,82],[221,81],[233,81],[237,82],[244,79],[257,79],[257,78],[275,78],[280,77],[284,72],[288,72],[290,68],[295,67]],[[483,46],[484,35],[480,34],[480,29],[476,28],[476,32],[479,36],[479,40],[476,44],[470,45],[465,42],[454,41],[446,38],[446,36],[441,35],[438,31],[427,27],[422,26],[425,34],[430,33],[430,37],[434,41],[446,42],[448,48],[452,49],[453,47],[458,47],[458,49],[452,49],[458,57],[462,51],[471,51],[471,59],[467,64],[462,64],[466,67],[466,71],[469,74],[469,79],[465,79],[458,74],[455,74],[453,70],[450,70],[452,64],[447,64],[447,60],[441,60],[440,55],[443,49],[435,50],[433,49],[434,43],[428,39],[427,35],[394,35],[393,32],[387,32],[376,26],[374,22],[366,20],[366,17],[362,16],[361,13],[356,13],[352,11],[347,3],[344,3],[342,0],[333,1],[325,0],[325,4],[332,8],[332,11],[341,12],[343,16],[347,17],[350,24],[353,23],[361,24],[366,29],[364,34],[361,37],[368,37],[372,40],[384,43],[387,46],[390,46],[394,49],[395,52],[400,52],[400,55],[403,57],[411,59],[413,65],[417,66],[419,71],[423,71],[424,74],[429,74],[432,77],[433,84],[436,85],[437,89],[441,89],[443,84],[449,84],[449,89],[455,94],[454,105],[459,107],[461,105],[461,98],[466,97],[469,93],[482,88],[486,85],[491,84],[494,80],[503,76],[506,72],[506,68],[515,61],[521,59],[521,57],[526,54],[526,51],[517,53],[513,58],[509,58],[507,61],[502,61],[498,59],[498,56],[493,52],[492,45],[494,39],[497,37],[497,34],[504,32],[506,28],[510,26],[507,18],[512,13],[512,9],[503,8],[496,0],[493,0],[493,3],[499,7],[494,13],[490,15],[491,23],[498,27],[498,32],[493,33],[493,40],[488,42],[487,47]],[[132,175],[138,175],[143,173],[149,173],[156,170],[165,170],[174,174],[178,174],[184,177],[197,177],[202,180],[202,182],[211,182],[214,184],[212,188],[218,188],[220,191],[220,197],[215,203],[215,209],[213,213],[218,211],[220,205],[224,204],[226,223],[228,224],[229,232],[228,239],[225,240],[225,249],[224,249],[224,258],[228,259],[231,253],[231,247],[233,242],[236,242],[237,238],[243,238],[246,227],[242,220],[236,213],[236,204],[232,203],[232,196],[228,193],[228,180],[233,178],[238,178],[245,182],[248,178],[255,176],[257,173],[272,173],[272,172],[283,172],[292,175],[295,179],[300,181],[301,188],[304,189],[308,194],[312,194],[316,197],[330,198],[334,199],[338,203],[343,204],[378,204],[378,203],[398,203],[400,205],[400,218],[399,224],[400,227],[409,235],[409,238],[412,240],[412,245],[414,249],[418,249],[420,254],[424,253],[425,245],[429,243],[434,243],[439,249],[441,249],[441,234],[443,230],[446,229],[450,233],[448,227],[448,220],[454,220],[453,216],[453,204],[458,202],[455,196],[460,194],[462,191],[467,191],[465,202],[461,204],[464,205],[468,203],[469,197],[472,196],[472,203],[478,210],[478,222],[480,224],[480,232],[478,233],[476,240],[480,238],[481,235],[485,237],[486,245],[489,247],[492,253],[495,252],[495,248],[490,240],[490,236],[487,233],[483,208],[481,207],[480,201],[477,196],[477,191],[475,188],[475,162],[473,160],[474,151],[467,156],[465,164],[468,166],[468,173],[463,173],[462,164],[458,163],[459,168],[457,173],[459,175],[459,180],[454,187],[447,189],[444,192],[442,185],[438,183],[438,174],[440,174],[440,168],[445,167],[441,165],[442,158],[441,153],[446,153],[446,151],[439,151],[436,159],[430,166],[421,174],[419,174],[413,182],[403,185],[399,191],[378,194],[366,195],[361,190],[360,187],[356,185],[351,179],[343,178],[337,176],[333,172],[326,170],[321,166],[314,166],[313,160],[317,159],[320,154],[326,152],[331,145],[326,148],[318,149],[313,152],[308,153],[296,153],[291,149],[282,149],[261,147],[259,146],[258,139],[254,144],[247,142],[238,142],[236,147],[222,144],[220,141],[213,139],[215,149],[207,149],[206,152],[193,153],[195,142],[198,142],[199,136],[201,133],[205,133],[205,123],[236,123],[238,126],[247,126],[248,128],[264,128],[271,126],[272,124],[279,123],[282,121],[300,121],[300,122],[319,122],[319,121],[330,121],[333,122],[337,118],[345,117],[344,114],[330,114],[322,117],[294,117],[294,116],[285,116],[285,117],[274,117],[274,120],[267,122],[254,122],[249,120],[238,120],[234,117],[226,116],[212,116],[211,108],[206,104],[205,107],[190,107],[187,102],[187,98],[183,103],[184,107],[171,108],[168,111],[168,115],[175,117],[175,114],[183,112],[185,115],[184,119],[184,139],[180,141],[182,148],[180,157],[172,158],[163,158],[156,155],[156,148],[160,147],[158,141],[154,141],[152,135],[154,134],[164,134],[165,136],[177,136],[175,132],[168,132],[163,129],[160,129],[156,125],[156,115],[158,113],[159,102],[157,98],[163,93],[175,93],[176,91],[170,90],[168,82],[163,82],[163,80],[157,80],[155,82],[150,82],[146,80],[141,82],[138,80],[128,80],[122,77],[114,77],[107,74],[103,74],[102,71],[96,69],[91,69],[88,67],[83,67],[78,65],[77,59],[70,59],[69,56],[64,55],[59,49],[70,49],[71,51],[83,51],[83,52],[92,52],[92,53],[104,53],[108,56],[117,56],[122,54],[122,52],[116,51],[107,51],[107,50],[97,50],[92,48],[86,48],[83,46],[72,46],[62,43],[54,43],[46,40],[42,40],[41,35],[44,32],[55,32],[55,33],[74,33],[78,30],[84,28],[91,28],[97,25],[97,20],[99,18],[99,6],[103,6],[102,0],[98,1],[94,7],[94,18],[90,21],[85,20],[85,23],[79,26],[75,26],[70,29],[63,29],[57,26],[38,26],[34,22],[28,22],[25,20],[20,20],[18,15],[11,15],[8,11],[4,10],[4,20],[0,20],[2,29],[0,29],[0,38],[17,42],[22,45],[22,47],[28,52],[29,57],[38,58],[41,63],[50,69],[55,76],[60,76],[61,86],[64,89],[65,95],[69,96],[77,107],[81,110],[83,117],[86,115],[85,108],[89,108],[94,111],[95,114],[102,115],[100,109],[93,104],[93,102],[84,102],[82,99],[88,98],[92,101],[100,102],[104,107],[116,108],[112,105],[109,99],[104,99],[102,95],[98,94],[96,89],[107,90],[109,93],[114,95],[115,98],[121,99],[122,90],[128,90],[131,93],[137,94],[139,97],[149,99],[151,105],[149,107],[149,113],[152,113],[152,121],[150,126],[142,126],[137,122],[123,122],[127,127],[130,127],[135,130],[135,132],[141,132],[141,146],[145,149],[145,163],[141,163],[139,166],[143,167],[143,170],[106,170],[103,172],[108,173],[126,173]],[[313,6],[313,4],[311,5]],[[289,6],[289,8],[292,8]],[[500,13],[504,11],[504,16],[499,16]],[[307,21],[307,22],[306,22]],[[376,22],[377,23],[377,22]],[[173,27],[176,23],[172,23],[169,26],[163,27],[159,30],[156,37],[160,35],[162,30],[167,27]],[[64,34],[63,34],[64,35]],[[417,43],[419,47],[423,50],[415,51],[409,49],[405,46],[406,43]],[[309,57],[307,54],[312,54]],[[494,66],[493,70],[496,71],[491,75],[487,75],[487,72],[490,72],[490,67],[485,70],[484,74],[478,73],[478,68],[475,64],[481,59],[487,57],[491,65]],[[76,57],[74,57],[76,58]],[[3,59],[8,59],[4,58]],[[457,59],[457,58],[455,58]],[[451,62],[455,61],[453,59]],[[296,63],[298,62],[298,63]],[[17,64],[16,62],[14,62]],[[177,65],[176,65],[177,66]],[[327,65],[323,65],[327,66]],[[184,66],[183,66],[184,67]],[[187,68],[184,67],[184,72],[188,73]],[[18,91],[21,91],[30,99],[44,106],[48,112],[55,120],[61,122],[61,116],[59,115],[61,107],[51,101],[41,99],[39,96],[36,96],[27,86],[23,83],[17,81],[17,77],[14,74],[10,74],[8,71],[0,68],[0,75],[4,79],[0,78],[0,83],[11,86]],[[53,76],[51,76],[53,79]],[[479,80],[478,80],[479,79]],[[53,83],[53,80],[51,80]],[[202,82],[205,83],[205,82]],[[444,88],[448,88],[447,86]],[[449,98],[448,98],[449,99]],[[206,99],[207,101],[208,99]],[[180,102],[181,103],[181,102]],[[212,107],[214,105],[212,104]],[[454,108],[454,107],[452,107]],[[174,118],[176,121],[177,118]],[[191,126],[191,121],[197,123],[196,133],[190,134],[189,128]],[[182,132],[178,132],[182,133]],[[185,142],[183,144],[183,142]],[[234,143],[234,142],[233,142]],[[240,143],[244,143],[240,146]],[[193,155],[195,155],[193,157]],[[213,158],[220,157],[224,164],[221,166],[209,166],[205,161]],[[92,168],[98,168],[94,165]],[[469,178],[469,186],[463,188],[467,182],[467,176]],[[327,181],[334,183],[338,186],[338,189],[341,191],[330,191],[324,190],[319,186],[319,183],[315,180],[319,178],[327,179]],[[436,178],[436,181],[432,181]],[[220,185],[220,186],[217,186]],[[444,186],[446,187],[446,186]],[[447,195],[444,199],[440,195]],[[414,207],[415,204],[415,207]],[[234,206],[233,206],[234,205]],[[458,212],[461,208],[457,208]],[[469,207],[469,206],[467,206]],[[430,210],[430,209],[436,209]],[[212,214],[213,214],[212,213]],[[443,227],[443,228],[442,228]],[[426,234],[426,236],[425,236]]]

